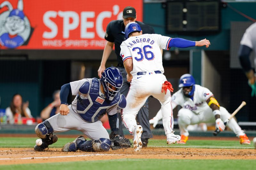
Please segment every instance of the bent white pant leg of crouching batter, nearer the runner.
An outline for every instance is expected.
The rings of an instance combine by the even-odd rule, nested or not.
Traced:
[[[178,112],[178,125],[180,128],[180,135],[188,136],[188,125],[198,124],[200,122],[199,115],[196,115],[189,109],[181,108]]]

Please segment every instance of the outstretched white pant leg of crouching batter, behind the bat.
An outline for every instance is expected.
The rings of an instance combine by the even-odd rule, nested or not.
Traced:
[[[230,113],[224,107],[220,107],[220,118],[222,121],[227,120],[230,117]],[[228,123],[227,126],[236,134],[237,137],[245,135],[244,131],[241,127],[237,124],[236,120],[232,118]]]

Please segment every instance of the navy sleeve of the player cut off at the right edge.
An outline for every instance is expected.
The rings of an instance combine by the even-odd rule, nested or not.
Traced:
[[[252,69],[251,61],[250,61],[251,51],[252,49],[248,46],[241,45],[239,47],[238,56],[239,56],[240,64],[245,72],[248,72]]]

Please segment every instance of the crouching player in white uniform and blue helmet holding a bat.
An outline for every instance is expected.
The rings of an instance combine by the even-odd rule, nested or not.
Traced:
[[[200,85],[195,84],[194,77],[190,74],[184,74],[180,77],[181,89],[172,95],[172,108],[180,105],[182,108],[178,112],[178,124],[180,128],[181,140],[177,143],[185,144],[188,140],[188,125],[199,123],[216,122],[216,128],[220,131],[225,130],[223,120],[230,117],[228,111],[219,105],[212,92]],[[150,123],[161,119],[161,113],[150,120]],[[250,140],[232,118],[228,127],[240,138],[241,144],[250,145]]]

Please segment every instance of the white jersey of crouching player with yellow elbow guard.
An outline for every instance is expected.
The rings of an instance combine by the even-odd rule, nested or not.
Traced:
[[[209,109],[206,100],[211,96],[213,96],[213,94],[209,89],[196,84],[192,100],[191,98],[184,96],[181,88],[172,95],[172,108],[174,109],[177,105],[180,105],[182,108],[186,108],[196,114],[200,114],[204,110]]]

